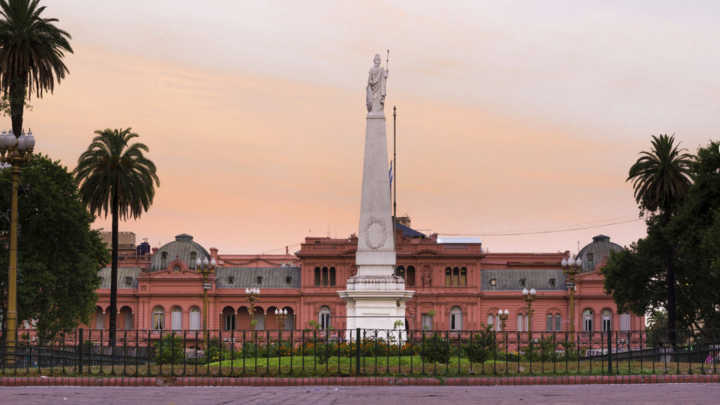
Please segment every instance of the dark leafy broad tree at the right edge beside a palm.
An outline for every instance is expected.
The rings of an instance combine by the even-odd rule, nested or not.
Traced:
[[[611,254],[603,268],[605,290],[620,311],[661,319],[654,333],[693,330],[710,337],[720,330],[720,144],[700,148],[691,165],[693,183],[672,217],[648,219],[647,236]],[[666,268],[677,282],[676,322],[670,326]],[[667,308],[666,313],[659,311]],[[661,327],[662,326],[662,327]],[[717,336],[717,335],[715,335]],[[671,336],[668,336],[670,338]],[[661,339],[657,339],[662,341]],[[674,343],[670,340],[671,343]]]

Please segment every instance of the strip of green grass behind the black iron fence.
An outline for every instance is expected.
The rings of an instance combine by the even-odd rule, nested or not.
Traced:
[[[128,363],[132,363],[129,361]],[[258,357],[243,360],[223,360],[210,364],[149,364],[135,367],[134,363],[95,365],[84,367],[82,375],[93,376],[352,376],[356,375],[357,365],[354,357],[332,356],[327,363],[321,363],[313,356],[283,356]],[[428,363],[423,362],[420,356],[378,356],[361,357],[360,374],[363,376],[552,376],[552,375],[606,375],[607,363],[603,360],[568,360],[529,362],[487,360],[482,363],[471,363],[467,358],[451,358],[450,362]],[[613,362],[613,374],[617,375],[652,375],[652,374],[714,374],[717,369],[708,368],[698,362],[661,362],[649,363],[639,360],[621,360]],[[77,376],[78,370],[74,366],[61,366],[52,368],[19,368],[0,369],[0,375],[5,376]]]

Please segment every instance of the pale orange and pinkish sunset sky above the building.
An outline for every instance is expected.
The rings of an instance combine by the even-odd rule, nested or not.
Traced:
[[[364,88],[385,49],[398,213],[491,252],[642,237],[625,178],[650,136],[692,152],[719,136],[716,1],[43,3],[75,53],[31,100],[36,150],[73,169],[94,130],[132,127],[161,184],[120,228],[153,246],[185,232],[281,253],[357,232]]]

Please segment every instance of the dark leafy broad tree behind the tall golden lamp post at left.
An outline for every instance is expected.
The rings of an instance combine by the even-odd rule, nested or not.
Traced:
[[[10,170],[0,170],[0,190],[10,187]],[[46,156],[35,155],[21,173],[19,195],[18,319],[36,321],[41,340],[88,322],[95,310],[98,270],[108,253],[93,217],[78,195],[72,174]],[[0,193],[0,213],[9,193]],[[0,214],[0,229],[9,220]],[[8,247],[0,236],[0,284],[7,288]],[[0,300],[4,302],[4,300]],[[5,308],[0,309],[3,313]]]

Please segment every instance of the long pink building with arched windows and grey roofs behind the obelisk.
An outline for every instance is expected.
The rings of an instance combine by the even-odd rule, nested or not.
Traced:
[[[499,329],[499,309],[509,310],[507,330],[528,330],[523,288],[534,288],[532,330],[576,331],[639,330],[642,317],[619,314],[603,291],[599,272],[610,251],[621,249],[599,235],[579,253],[583,271],[576,277],[575,311],[569,313],[566,276],[560,266],[568,253],[487,253],[480,243],[443,243],[398,223],[397,275],[414,290],[407,304],[410,329],[472,330],[493,324]],[[255,329],[307,329],[311,321],[321,328],[345,327],[345,304],[338,291],[354,274],[357,238],[307,237],[295,254],[236,255],[205,249],[187,234],[148,251],[126,246],[118,271],[118,329],[199,330],[202,327],[202,276],[197,259],[214,258],[210,276],[211,329],[250,329],[246,288],[259,288]],[[108,325],[110,269],[100,271],[96,316],[89,327]],[[291,315],[281,325],[277,309]]]

